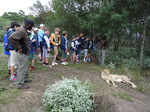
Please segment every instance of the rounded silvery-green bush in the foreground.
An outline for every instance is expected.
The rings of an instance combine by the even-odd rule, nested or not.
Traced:
[[[87,84],[79,80],[63,79],[48,86],[44,93],[43,104],[50,112],[90,112],[92,93]]]

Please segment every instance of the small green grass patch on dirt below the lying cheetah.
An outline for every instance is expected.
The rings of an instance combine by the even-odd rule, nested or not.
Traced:
[[[127,94],[127,93],[115,92],[112,95],[115,96],[115,97],[119,97],[119,98],[121,98],[123,100],[132,101],[131,96],[129,94]]]

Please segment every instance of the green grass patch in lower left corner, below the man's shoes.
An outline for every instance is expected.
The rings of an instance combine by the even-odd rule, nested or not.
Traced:
[[[21,90],[10,89],[0,92],[0,104],[9,104],[11,102],[18,102],[15,98],[18,97]]]

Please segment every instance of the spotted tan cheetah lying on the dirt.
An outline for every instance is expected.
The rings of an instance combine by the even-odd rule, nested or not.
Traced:
[[[137,88],[137,86],[132,83],[127,76],[125,75],[116,75],[116,74],[110,74],[108,69],[102,70],[101,78],[104,79],[108,85],[113,85],[114,87],[117,87],[115,82],[123,82],[126,84],[130,84],[133,88]]]

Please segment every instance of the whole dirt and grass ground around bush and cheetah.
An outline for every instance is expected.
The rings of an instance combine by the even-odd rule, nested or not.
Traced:
[[[118,87],[109,87],[100,78],[101,69],[95,63],[58,65],[44,67],[36,63],[37,70],[29,73],[33,82],[27,84],[29,90],[13,89],[14,82],[9,81],[6,67],[6,56],[0,54],[0,112],[44,112],[43,93],[47,85],[66,78],[77,78],[90,81],[90,90],[95,93],[93,99],[96,106],[93,112],[150,112],[149,79],[132,76],[129,70],[115,69],[112,73],[130,74],[129,77],[138,86],[117,83]]]

